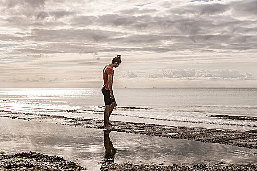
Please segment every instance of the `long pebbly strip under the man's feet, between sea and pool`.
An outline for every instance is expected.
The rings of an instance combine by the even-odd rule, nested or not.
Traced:
[[[56,119],[60,124],[66,124],[75,127],[103,129],[103,120],[68,118],[61,115],[44,115],[22,112],[8,112],[1,110],[0,116],[10,117],[12,119]],[[239,147],[257,149],[257,131],[232,131],[218,130],[209,128],[190,128],[175,127],[157,124],[144,124],[134,122],[113,121],[114,131],[143,134],[149,136],[160,136],[167,138],[188,139],[209,143],[220,143]]]

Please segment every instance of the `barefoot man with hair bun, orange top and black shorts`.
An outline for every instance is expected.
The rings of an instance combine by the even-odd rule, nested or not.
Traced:
[[[105,103],[104,125],[103,125],[104,128],[115,128],[112,126],[109,118],[114,107],[116,107],[117,105],[113,94],[113,76],[114,76],[113,68],[117,68],[120,63],[121,63],[121,55],[118,55],[117,57],[113,58],[111,64],[106,65],[103,69],[102,93],[104,95],[104,103]]]

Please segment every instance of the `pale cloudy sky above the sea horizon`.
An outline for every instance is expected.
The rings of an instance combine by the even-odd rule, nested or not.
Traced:
[[[257,87],[257,0],[1,0],[0,87]]]

